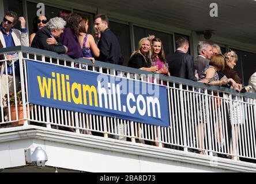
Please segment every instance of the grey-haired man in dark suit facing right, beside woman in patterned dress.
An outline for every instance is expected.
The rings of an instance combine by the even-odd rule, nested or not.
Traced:
[[[198,56],[194,59],[194,67],[198,75],[209,65],[210,57],[212,57],[212,45],[206,41],[199,41],[197,45]]]

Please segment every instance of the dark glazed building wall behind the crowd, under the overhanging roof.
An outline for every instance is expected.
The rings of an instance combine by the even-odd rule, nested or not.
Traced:
[[[49,17],[57,16],[58,11],[62,9],[71,10],[76,13],[80,13],[82,16],[89,18],[89,33],[93,34],[93,16],[97,13],[106,13],[110,18],[110,28],[116,34],[121,44],[121,50],[124,57],[124,65],[126,66],[131,52],[137,48],[138,40],[141,37],[148,36],[148,34],[155,34],[163,41],[165,52],[167,53],[167,59],[170,59],[175,51],[175,39],[178,35],[187,37],[190,40],[190,53],[194,57],[197,56],[197,43],[204,40],[202,35],[198,35],[192,30],[186,30],[182,28],[175,28],[169,24],[159,24],[158,22],[152,22],[144,20],[139,17],[132,17],[126,14],[119,14],[114,11],[108,11],[106,9],[99,9],[97,5],[94,7],[86,6],[85,3],[78,3],[78,1],[34,1],[34,0],[1,0],[0,3],[5,4],[6,10],[14,10],[20,16],[27,18],[28,30],[32,31],[32,20],[36,15],[36,4],[43,2],[46,5],[46,14]],[[20,8],[22,6],[22,9]],[[112,27],[111,27],[112,25]],[[140,29],[140,31],[138,31]],[[213,34],[212,43],[220,44],[223,48],[236,49],[239,56],[238,66],[235,70],[238,71],[240,78],[243,79],[244,85],[247,85],[250,76],[255,72],[255,60],[256,57],[256,45],[247,43],[241,43],[235,40],[228,40],[218,37]],[[228,51],[228,49],[226,50]]]

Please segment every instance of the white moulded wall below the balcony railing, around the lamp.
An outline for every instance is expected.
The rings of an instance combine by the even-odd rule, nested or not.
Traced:
[[[251,163],[32,125],[0,129],[0,138],[0,168],[22,168],[24,150],[40,146],[48,156],[46,166],[69,170],[100,173],[256,170]]]

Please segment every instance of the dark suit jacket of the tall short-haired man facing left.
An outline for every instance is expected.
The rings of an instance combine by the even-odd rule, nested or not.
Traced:
[[[101,33],[98,48],[100,49],[100,56],[96,60],[113,64],[123,64],[119,41],[109,28]]]

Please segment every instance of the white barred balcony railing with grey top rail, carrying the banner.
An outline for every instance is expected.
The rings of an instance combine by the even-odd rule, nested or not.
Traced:
[[[1,106],[2,122],[0,122],[0,124],[5,124],[6,122],[15,123],[17,120],[25,120],[24,125],[27,125],[28,122],[43,123],[46,124],[47,128],[51,128],[51,125],[54,125],[64,129],[66,128],[67,130],[71,129],[71,131],[76,131],[77,133],[88,134],[88,131],[92,131],[103,133],[104,137],[110,136],[120,140],[129,137],[133,142],[138,140],[142,142],[146,140],[153,141],[155,145],[159,147],[163,147],[162,144],[164,144],[171,145],[172,147],[183,147],[184,151],[189,151],[188,149],[192,148],[207,151],[209,155],[216,152],[225,155],[232,154],[233,156],[256,159],[256,137],[254,128],[256,126],[255,94],[238,93],[235,90],[227,89],[225,87],[208,86],[204,83],[176,78],[174,76],[155,75],[152,72],[105,62],[96,61],[93,64],[91,60],[88,59],[73,59],[67,55],[59,55],[58,53],[41,49],[22,46],[0,49],[0,54],[6,54],[8,52],[19,53],[18,59],[20,63],[20,82],[24,117],[18,117],[17,102],[15,102],[16,116],[11,116],[9,98],[7,98],[8,114],[5,113],[5,116],[7,115],[8,117],[5,121],[3,118],[3,106]],[[35,62],[27,64],[29,60]],[[9,61],[5,58],[5,60],[1,60],[1,62],[6,66],[5,71],[7,72],[7,62]],[[59,64],[60,62],[61,64]],[[32,63],[37,64],[37,66]],[[92,109],[91,111],[80,111],[80,109],[70,109],[66,108],[66,106],[64,108],[63,104],[61,104],[61,106],[51,106],[51,104],[56,105],[57,102],[55,103],[55,101],[54,103],[50,102],[50,104],[40,104],[37,99],[34,99],[33,101],[32,97],[28,96],[29,94],[36,93],[31,93],[31,91],[29,91],[29,86],[27,85],[28,83],[37,83],[29,81],[30,79],[37,78],[37,72],[33,73],[31,71],[35,69],[35,71],[39,71],[40,73],[38,68],[43,70],[43,65],[39,66],[42,63],[64,66],[59,67],[58,72],[61,72],[62,70],[69,71],[69,69],[72,68],[72,71],[79,71],[82,75],[88,75],[86,76],[88,79],[91,77],[89,76],[91,72],[86,72],[91,70],[89,69],[89,66],[93,66],[92,71],[95,72],[95,75],[105,75],[106,72],[103,69],[107,68],[107,75],[119,76],[119,74],[121,74],[122,78],[149,84],[152,84],[153,77],[154,83],[156,85],[161,85],[161,94],[165,94],[166,92],[167,98],[161,98],[161,102],[167,103],[165,104],[166,106],[163,106],[162,108],[167,111],[163,113],[164,116],[158,118],[160,124],[156,124],[155,119],[150,124],[149,121],[152,121],[150,119],[148,119],[149,121],[142,121],[145,120],[145,116],[141,113],[141,118],[138,118],[137,115],[135,118],[131,116],[127,118],[127,114],[125,114],[125,117],[107,116],[112,112],[108,112],[110,114],[97,114],[95,109]],[[77,64],[79,64],[78,67]],[[81,64],[85,64],[85,67]],[[14,64],[12,67],[14,67]],[[98,68],[99,71],[97,70]],[[47,68],[44,69],[47,70]],[[13,71],[15,70],[13,69]],[[144,80],[144,76],[147,74],[150,75]],[[52,75],[53,78],[55,77],[55,73],[51,73],[50,75]],[[134,78],[133,75],[135,75]],[[15,72],[13,72],[13,78],[15,79],[16,77],[14,76],[16,76]],[[9,93],[7,86],[9,79],[5,78],[3,75],[1,80],[5,80],[5,86],[7,88],[6,93]],[[0,86],[0,89],[5,88],[1,88]],[[9,89],[12,88],[9,86]],[[200,89],[207,89],[209,91]],[[16,98],[16,90],[13,89],[13,91],[14,97]],[[58,89],[58,91],[61,90]],[[220,93],[225,93],[225,95],[223,95],[223,97],[219,97],[219,95],[215,96],[213,91],[219,91]],[[209,94],[209,92],[211,94]],[[4,93],[2,93],[1,97],[3,97],[3,94]],[[36,95],[38,97],[39,94],[37,93]],[[164,96],[165,95],[161,97]],[[58,95],[58,98],[59,97],[61,97],[61,95]],[[248,101],[244,101],[242,97],[249,97],[249,99]],[[110,100],[112,101],[112,99]],[[140,99],[138,101],[140,102]],[[33,105],[32,108],[30,105]],[[25,113],[26,109],[31,109],[31,112],[28,114]],[[168,126],[164,123],[161,124],[161,122],[168,122]],[[205,125],[203,126],[203,124]],[[241,134],[239,135],[240,138],[238,142],[238,140],[235,139],[234,133],[239,131],[239,128]],[[232,131],[232,133],[229,131]],[[232,150],[236,150],[236,148],[239,148],[239,150],[232,151],[231,147],[229,148],[231,143]],[[239,146],[237,146],[238,143]],[[247,143],[250,143],[250,145],[247,145]],[[245,151],[244,145],[246,148]]]

